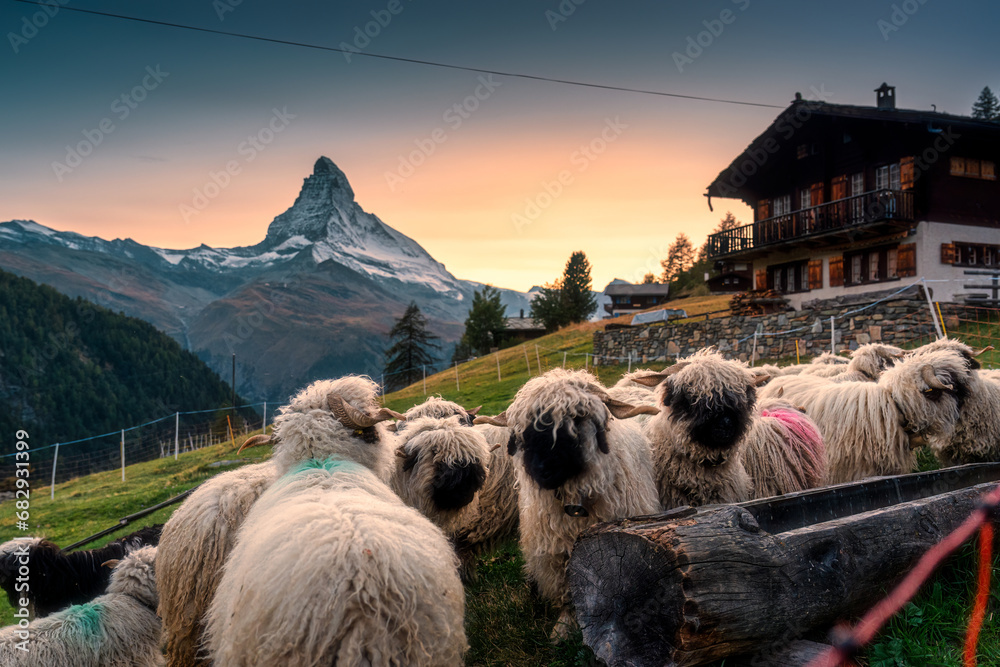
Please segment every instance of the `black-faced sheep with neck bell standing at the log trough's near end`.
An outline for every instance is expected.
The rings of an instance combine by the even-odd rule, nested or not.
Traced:
[[[521,550],[528,576],[559,610],[555,641],[576,624],[566,564],[577,536],[660,510],[649,445],[628,419],[639,412],[658,410],[611,398],[586,371],[556,368],[528,380],[497,417],[476,420],[511,430]]]

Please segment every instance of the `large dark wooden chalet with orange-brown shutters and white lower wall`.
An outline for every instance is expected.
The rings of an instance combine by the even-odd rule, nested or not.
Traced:
[[[708,186],[754,222],[709,236],[725,275],[749,264],[756,289],[805,301],[928,282],[963,301],[969,269],[1000,264],[1000,123],[876,106],[791,106]]]

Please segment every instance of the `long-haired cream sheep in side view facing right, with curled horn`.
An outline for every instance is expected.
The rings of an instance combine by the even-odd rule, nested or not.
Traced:
[[[780,377],[761,396],[803,406],[823,435],[826,481],[838,484],[911,472],[914,447],[950,442],[971,375],[961,354],[939,350],[903,360],[877,382]]]

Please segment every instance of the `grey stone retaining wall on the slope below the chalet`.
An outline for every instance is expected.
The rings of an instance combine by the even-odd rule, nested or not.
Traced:
[[[757,331],[756,359],[795,358],[795,341],[803,361],[830,350],[830,317],[834,318],[837,351],[865,343],[900,345],[933,339],[934,323],[923,292],[917,288],[871,306],[840,298],[814,302],[800,311],[757,317],[722,317],[687,324],[650,324],[594,333],[596,364],[661,364],[714,345],[727,357],[750,361]],[[870,306],[865,308],[865,306]],[[862,309],[863,310],[859,310]],[[946,326],[957,324],[952,308],[941,304]]]

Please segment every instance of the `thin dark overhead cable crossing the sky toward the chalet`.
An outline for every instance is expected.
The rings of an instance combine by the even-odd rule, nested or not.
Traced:
[[[45,3],[38,0],[14,0],[14,2],[21,2],[27,5],[38,5],[42,6]],[[325,46],[323,44],[309,44],[307,42],[297,42],[288,39],[276,39],[274,37],[263,37],[261,35],[248,35],[246,33],[240,32],[230,32],[227,30],[216,30],[214,28],[202,28],[199,26],[186,25],[183,23],[172,23],[170,21],[157,21],[155,19],[145,19],[138,16],[126,16],[124,14],[114,14],[112,12],[100,12],[95,9],[83,9],[81,7],[67,7],[61,5],[60,9],[62,11],[68,12],[79,12],[81,14],[92,14],[94,16],[105,16],[108,18],[122,19],[124,21],[135,21],[138,23],[149,23],[152,25],[165,26],[168,28],[180,28],[182,30],[194,30],[197,32],[206,32],[213,35],[225,35],[227,37],[239,37],[240,39],[252,39],[258,42],[269,42],[271,44],[284,44],[286,46],[299,46],[306,49],[317,49],[320,51],[333,51],[334,53],[349,53],[351,56],[358,56],[364,58],[378,58],[381,60],[393,60],[396,62],[411,63],[415,65],[427,65],[430,67],[442,67],[445,69],[456,69],[463,70],[466,72],[476,72],[478,74],[495,74],[496,76],[505,76],[516,79],[528,79],[532,81],[546,81],[548,83],[561,83],[567,86],[580,86],[583,88],[597,88],[599,90],[613,90],[623,93],[636,93],[640,95],[655,95],[658,97],[673,97],[683,100],[696,100],[699,102],[717,102],[719,104],[738,104],[741,106],[750,107],[765,107],[768,109],[784,109],[784,106],[779,106],[776,104],[764,104],[763,102],[746,102],[743,100],[729,100],[718,97],[702,97],[700,95],[683,95],[681,93],[668,93],[660,90],[645,90],[642,88],[630,88],[627,86],[611,86],[601,83],[593,83],[589,81],[575,81],[572,79],[557,79],[553,77],[540,76],[537,74],[524,74],[523,72],[505,72],[503,70],[485,69],[482,67],[470,67],[467,65],[456,65],[454,63],[443,63],[434,60],[422,60],[419,58],[405,58],[403,56],[390,56],[384,53],[366,53],[364,51],[355,49],[341,49],[334,46]]]

